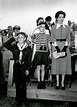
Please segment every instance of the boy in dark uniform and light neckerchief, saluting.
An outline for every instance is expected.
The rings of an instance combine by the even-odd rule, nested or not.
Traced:
[[[15,44],[12,42],[17,41]],[[27,44],[27,35],[24,32],[11,37],[3,46],[13,54],[13,83],[16,88],[16,102],[26,102],[26,76],[29,74],[31,64],[31,48]]]

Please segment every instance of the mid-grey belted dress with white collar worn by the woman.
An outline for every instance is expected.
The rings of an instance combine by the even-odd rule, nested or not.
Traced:
[[[52,44],[56,42],[59,49],[62,50],[66,44],[66,41],[70,43],[70,27],[68,25],[59,27],[57,27],[57,25],[54,25],[51,29],[51,41]],[[66,49],[66,57],[55,59],[52,55],[52,74],[71,74],[71,53],[69,47],[70,45],[68,45]],[[52,45],[52,53],[55,49],[55,46]]]

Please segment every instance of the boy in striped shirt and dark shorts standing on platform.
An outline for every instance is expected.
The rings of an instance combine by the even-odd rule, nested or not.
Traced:
[[[45,89],[45,66],[48,64],[48,57],[51,54],[50,35],[45,34],[45,22],[39,24],[39,33],[34,34],[33,42],[36,44],[34,63],[37,71],[37,88]]]

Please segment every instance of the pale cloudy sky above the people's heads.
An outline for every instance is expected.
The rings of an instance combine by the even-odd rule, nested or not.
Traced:
[[[0,29],[20,25],[28,35],[36,28],[38,17],[52,17],[59,10],[66,12],[68,20],[77,23],[77,0],[0,0]]]

